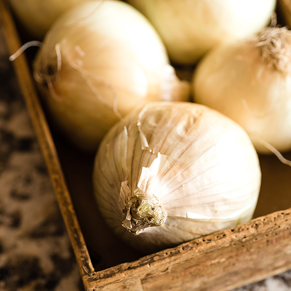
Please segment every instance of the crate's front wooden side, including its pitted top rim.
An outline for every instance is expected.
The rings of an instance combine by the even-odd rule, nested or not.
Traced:
[[[291,210],[86,276],[88,291],[229,291],[291,268]]]

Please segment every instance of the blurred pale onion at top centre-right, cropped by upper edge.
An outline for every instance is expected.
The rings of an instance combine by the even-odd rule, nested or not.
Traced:
[[[193,64],[221,42],[259,32],[275,0],[128,0],[153,23],[171,60]]]

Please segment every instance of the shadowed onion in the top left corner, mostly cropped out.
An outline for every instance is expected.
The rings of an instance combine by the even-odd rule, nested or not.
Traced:
[[[32,36],[42,39],[52,23],[85,0],[9,0],[17,18]]]

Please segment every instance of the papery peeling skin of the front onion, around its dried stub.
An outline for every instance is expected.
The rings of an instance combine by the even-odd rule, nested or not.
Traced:
[[[190,102],[149,102],[129,113],[102,140],[93,172],[105,221],[146,254],[250,220],[260,181],[258,156],[246,132],[221,113]],[[164,226],[137,232],[122,226],[139,223],[124,210],[125,196],[136,192],[157,198]]]

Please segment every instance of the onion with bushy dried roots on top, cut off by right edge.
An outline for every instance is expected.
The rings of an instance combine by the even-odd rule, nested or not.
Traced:
[[[194,72],[194,100],[238,122],[258,152],[290,150],[290,64],[291,31],[265,29],[202,59]]]

